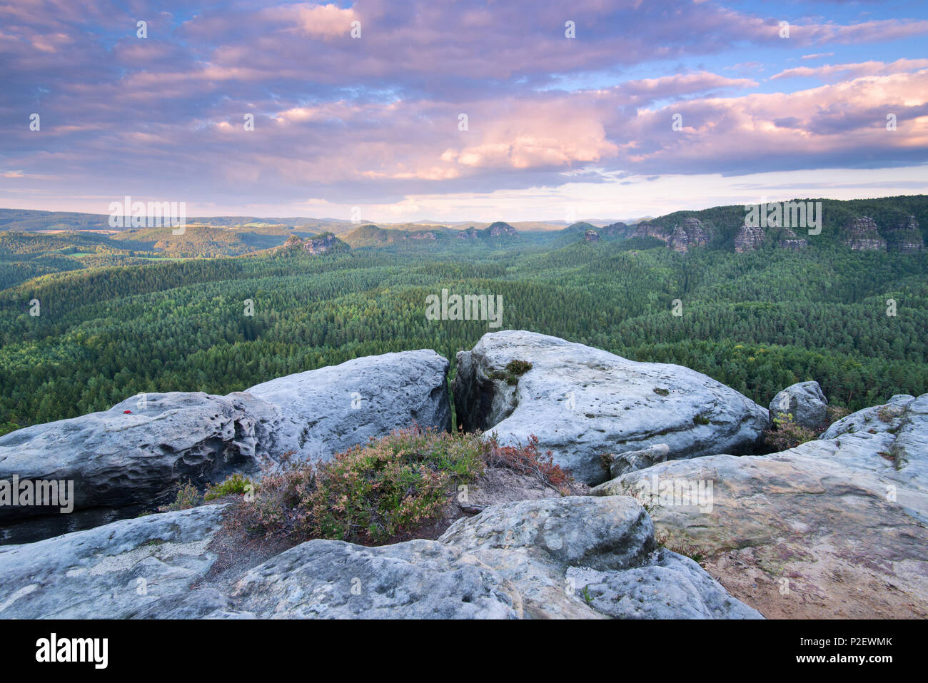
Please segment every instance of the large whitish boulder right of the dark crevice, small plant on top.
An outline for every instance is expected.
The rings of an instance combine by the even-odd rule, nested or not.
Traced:
[[[511,361],[531,364],[521,376]],[[750,453],[767,410],[687,367],[637,363],[557,337],[506,330],[458,352],[453,385],[465,430],[527,443],[584,483],[609,478],[602,456],[666,444],[670,458]]]

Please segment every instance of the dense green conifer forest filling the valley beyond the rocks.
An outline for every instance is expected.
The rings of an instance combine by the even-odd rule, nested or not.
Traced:
[[[921,216],[924,206],[905,211]],[[703,220],[723,225],[725,210]],[[928,253],[851,251],[833,239],[834,215],[806,251],[767,243],[748,253],[718,239],[679,253],[660,239],[589,243],[565,230],[435,248],[142,260],[110,252],[114,239],[36,246],[0,233],[14,274],[0,291],[0,431],[137,393],[228,393],[391,351],[434,349],[453,375],[456,352],[494,330],[427,319],[426,299],[442,289],[501,295],[502,329],[692,367],[762,406],[802,380],[850,409],[928,392]],[[97,261],[43,271],[42,259],[71,250]],[[35,267],[22,275],[19,264]]]

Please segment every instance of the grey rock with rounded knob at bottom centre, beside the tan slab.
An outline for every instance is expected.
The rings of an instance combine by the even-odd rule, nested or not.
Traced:
[[[760,617],[694,562],[658,549],[651,519],[636,501],[582,500],[495,506],[458,520],[439,540],[515,586],[526,617]]]

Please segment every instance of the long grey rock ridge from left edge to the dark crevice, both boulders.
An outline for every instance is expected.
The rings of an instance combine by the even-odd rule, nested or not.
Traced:
[[[99,413],[0,437],[0,484],[13,478],[71,482],[62,505],[0,505],[0,543],[86,529],[173,499],[233,472],[257,472],[263,457],[328,459],[370,437],[414,423],[451,429],[448,361],[433,351],[355,358],[270,380],[247,393],[147,393]],[[70,497],[70,496],[69,496]]]

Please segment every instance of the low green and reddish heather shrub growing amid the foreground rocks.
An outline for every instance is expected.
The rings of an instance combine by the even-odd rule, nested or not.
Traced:
[[[383,543],[437,517],[458,484],[480,474],[489,449],[477,434],[412,428],[329,462],[284,458],[265,466],[253,500],[239,501],[227,523],[233,530],[296,543],[311,538]]]

